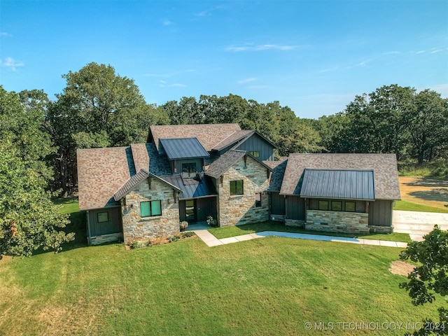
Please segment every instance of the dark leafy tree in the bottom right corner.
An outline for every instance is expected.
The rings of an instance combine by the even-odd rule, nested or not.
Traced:
[[[440,230],[436,225],[423,238],[423,241],[412,241],[400,254],[401,260],[409,259],[419,263],[407,276],[409,281],[400,283],[400,288],[409,291],[415,306],[434,302],[435,294],[448,295],[448,231]],[[447,306],[439,307],[438,311],[437,323],[430,319],[423,323],[431,327],[438,325],[440,328],[421,328],[414,335],[448,335]]]

